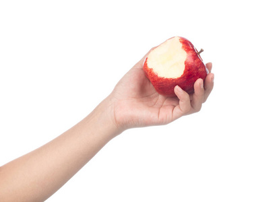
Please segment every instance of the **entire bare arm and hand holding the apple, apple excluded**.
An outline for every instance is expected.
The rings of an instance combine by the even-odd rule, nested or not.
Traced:
[[[204,82],[197,79],[193,94],[176,86],[177,98],[164,97],[154,90],[143,72],[146,56],[77,125],[42,147],[1,166],[1,201],[45,201],[108,141],[126,129],[166,125],[201,109],[214,86],[213,73],[209,73]],[[212,63],[206,66],[212,70]]]

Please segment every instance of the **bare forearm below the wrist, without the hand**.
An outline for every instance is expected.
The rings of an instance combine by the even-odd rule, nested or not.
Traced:
[[[1,201],[44,201],[118,134],[101,103],[53,141],[0,168]]]

